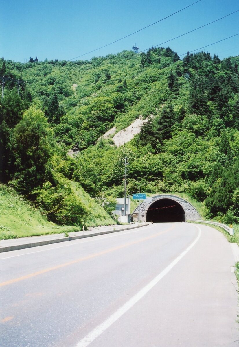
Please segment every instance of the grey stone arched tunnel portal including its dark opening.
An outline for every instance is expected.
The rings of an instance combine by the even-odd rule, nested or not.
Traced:
[[[140,203],[140,221],[182,222],[201,219],[198,211],[188,201],[170,194],[152,196],[152,201]],[[132,213],[132,220],[138,221],[139,206]]]

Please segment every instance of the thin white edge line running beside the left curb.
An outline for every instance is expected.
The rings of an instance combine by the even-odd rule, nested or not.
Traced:
[[[146,226],[147,227],[147,226]],[[147,227],[147,228],[144,228],[144,227],[140,227],[139,229],[140,229],[140,231],[142,230],[147,230],[147,229],[150,229],[150,228],[152,228],[152,226],[150,226],[150,227]],[[135,228],[136,229],[136,228]],[[138,228],[137,228],[138,229]],[[45,251],[50,251],[51,249],[58,249],[58,248],[62,248],[62,247],[68,247],[68,246],[74,246],[74,245],[78,245],[78,244],[83,244],[83,243],[87,243],[87,242],[92,242],[92,241],[97,241],[97,240],[103,240],[103,239],[106,239],[106,238],[109,238],[109,237],[115,237],[115,236],[119,236],[119,235],[127,235],[127,234],[131,234],[132,232],[137,232],[137,231],[139,231],[139,230],[132,230],[132,231],[128,231],[128,232],[124,232],[124,233],[122,233],[122,232],[114,232],[114,234],[113,235],[109,235],[109,236],[105,236],[105,237],[100,237],[100,238],[95,238],[96,236],[104,236],[104,234],[102,234],[102,235],[96,235],[96,236],[90,236],[90,237],[93,237],[94,239],[90,239],[90,240],[87,240],[87,241],[82,241],[82,239],[83,238],[81,238],[81,239],[76,239],[76,240],[70,240],[69,242],[71,242],[71,241],[73,241],[72,243],[70,243],[70,244],[66,244],[66,245],[61,245],[61,246],[59,246],[59,243],[55,243],[54,245],[55,246],[58,246],[58,247],[51,247],[51,248],[46,248],[46,249],[40,249],[40,251],[35,251],[35,252],[28,252],[28,253],[23,253],[23,254],[17,254],[17,255],[11,255],[11,256],[9,256],[9,257],[5,257],[5,258],[0,258],[0,260],[5,260],[5,259],[9,259],[9,258],[15,258],[15,257],[20,257],[20,256],[23,256],[23,255],[28,255],[28,254],[34,254],[34,253],[39,253],[39,252],[45,252]],[[127,231],[127,230],[125,230],[125,231]],[[75,241],[78,241],[78,242],[75,242]],[[42,245],[42,246],[37,246],[37,247],[43,247],[43,246],[48,246],[48,245]],[[25,249],[29,249],[30,247],[28,247],[28,248],[25,248]],[[24,249],[24,248],[23,248]],[[23,249],[16,249],[16,251],[22,251]],[[8,251],[8,252],[14,252],[14,251]],[[4,253],[5,252],[2,252],[2,253],[0,253],[0,256],[1,255],[4,255]],[[7,252],[6,252],[7,253]]]

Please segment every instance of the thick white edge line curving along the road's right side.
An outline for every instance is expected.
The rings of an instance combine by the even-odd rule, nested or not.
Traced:
[[[151,282],[149,282],[145,287],[143,287],[137,294],[135,294],[129,301],[127,301],[123,306],[121,306],[115,313],[113,313],[109,318],[107,318],[103,323],[94,328],[88,335],[86,335],[80,342],[78,342],[74,347],[87,347],[92,341],[94,341],[98,336],[100,336],[107,328],[110,327],[114,322],[116,322],[124,313],[126,313],[134,304],[136,304],[145,294],[148,293],[173,267],[176,265],[184,255],[190,251],[190,249],[197,243],[201,236],[201,229],[197,238],[193,243],[183,251],[171,264],[169,264],[162,272],[160,272]]]

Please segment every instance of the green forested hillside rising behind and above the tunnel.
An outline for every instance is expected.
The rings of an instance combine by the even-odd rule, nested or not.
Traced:
[[[78,225],[76,216],[89,211],[69,182],[110,212],[113,198],[123,194],[127,156],[127,194],[139,186],[185,192],[205,204],[207,218],[237,223],[238,61],[206,52],[180,59],[169,47],[90,61],[0,59],[0,75],[8,77],[0,106],[2,183],[50,220]],[[25,81],[19,95],[15,79]],[[124,146],[97,140],[139,116],[151,120]]]

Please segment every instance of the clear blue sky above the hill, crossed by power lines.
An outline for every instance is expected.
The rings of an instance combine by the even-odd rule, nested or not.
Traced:
[[[154,23],[196,0],[8,0],[1,3],[0,56],[68,60]],[[79,58],[90,59],[137,43],[140,51],[239,10],[238,0],[201,0],[126,39]],[[163,44],[178,54],[239,33],[239,12],[194,33]],[[225,58],[239,54],[239,35],[205,48]]]

